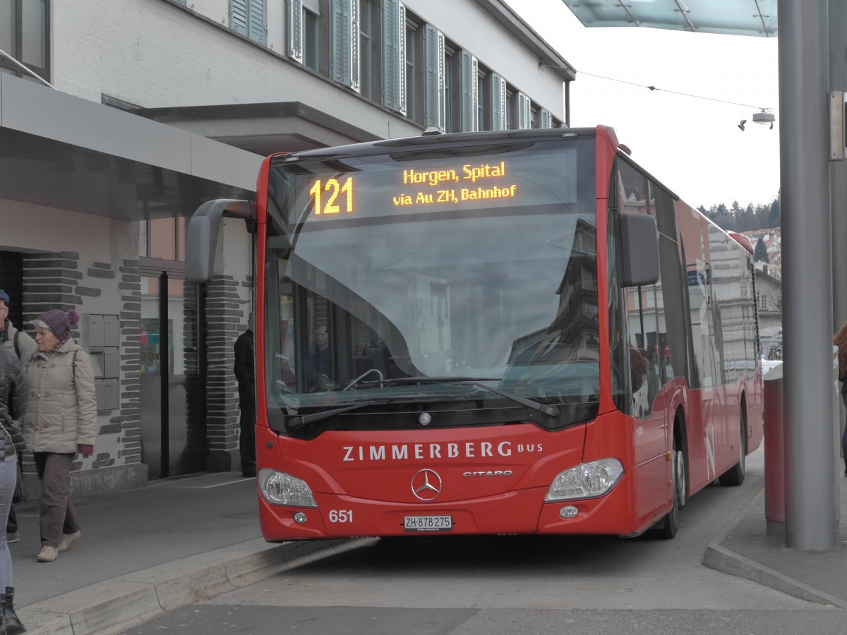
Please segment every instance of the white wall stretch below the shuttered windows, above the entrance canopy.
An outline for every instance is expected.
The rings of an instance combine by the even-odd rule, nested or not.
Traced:
[[[219,10],[208,10],[228,4],[208,5],[203,0],[203,14],[228,25],[225,11],[219,18]],[[163,0],[51,6],[53,85],[60,91],[96,102],[105,93],[145,108],[304,102],[374,135],[420,133],[344,86]],[[268,18],[268,44],[284,53],[282,16],[271,11]]]

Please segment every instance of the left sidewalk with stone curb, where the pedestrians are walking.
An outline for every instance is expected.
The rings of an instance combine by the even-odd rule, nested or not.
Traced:
[[[15,607],[28,635],[120,632],[366,541],[268,544],[256,479],[218,472],[75,500],[82,538],[39,563],[38,502],[15,505]]]

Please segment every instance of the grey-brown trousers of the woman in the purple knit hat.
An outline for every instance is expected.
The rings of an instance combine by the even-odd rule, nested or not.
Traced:
[[[68,474],[72,454],[33,452],[38,478],[42,479],[42,547],[58,547],[63,533],[80,530],[74,505],[70,502]]]

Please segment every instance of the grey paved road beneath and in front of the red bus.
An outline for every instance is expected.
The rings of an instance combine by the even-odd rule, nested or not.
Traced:
[[[761,487],[689,500],[677,538],[395,538],[176,610],[128,635],[207,632],[847,632],[847,611],[812,605],[701,564],[711,538]]]

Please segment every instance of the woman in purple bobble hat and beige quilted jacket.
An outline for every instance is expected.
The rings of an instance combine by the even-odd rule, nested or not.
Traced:
[[[26,369],[24,436],[42,479],[39,562],[53,562],[82,535],[68,475],[77,453],[94,453],[97,397],[91,356],[70,337],[79,320],[73,309],[53,309],[33,322],[38,351]]]

